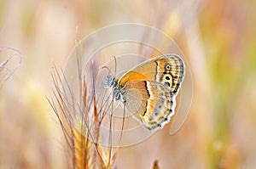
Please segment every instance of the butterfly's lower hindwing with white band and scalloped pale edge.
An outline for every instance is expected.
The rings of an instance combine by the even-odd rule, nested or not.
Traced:
[[[163,127],[174,115],[174,97],[160,82],[128,82],[125,99],[127,109],[150,130]]]

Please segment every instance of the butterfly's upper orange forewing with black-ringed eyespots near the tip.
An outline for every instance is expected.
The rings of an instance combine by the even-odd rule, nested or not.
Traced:
[[[183,60],[175,54],[169,54],[149,59],[137,65],[119,79],[119,84],[124,86],[126,82],[149,80],[163,83],[170,88],[172,93],[177,93],[181,82],[183,82],[183,76]]]

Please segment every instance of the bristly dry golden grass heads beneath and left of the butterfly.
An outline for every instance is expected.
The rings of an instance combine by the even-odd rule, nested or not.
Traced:
[[[81,70],[79,70],[79,75]],[[64,75],[61,70],[61,74]],[[72,168],[113,168],[115,160],[115,152],[113,147],[102,146],[98,144],[99,140],[108,139],[102,138],[99,128],[104,115],[99,115],[96,98],[87,94],[85,76],[81,80],[82,98],[81,104],[73,100],[73,92],[70,88],[67,79],[61,75],[55,68],[55,73],[52,74],[54,82],[53,93],[55,99],[50,99],[49,104],[55,111],[58,120],[60,121],[64,137],[67,141],[67,155]],[[82,82],[83,79],[83,82]],[[67,88],[63,87],[63,82],[66,83]],[[71,96],[71,99],[68,98]],[[79,109],[76,106],[79,105]],[[91,112],[93,106],[93,112]],[[100,112],[102,113],[102,112]],[[111,132],[109,133],[111,134]]]

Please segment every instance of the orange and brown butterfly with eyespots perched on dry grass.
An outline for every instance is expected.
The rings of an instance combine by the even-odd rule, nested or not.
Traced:
[[[143,127],[153,130],[164,127],[174,115],[184,76],[183,59],[165,54],[144,61],[119,79],[108,75],[106,83],[113,98],[125,104]]]

